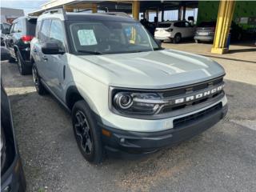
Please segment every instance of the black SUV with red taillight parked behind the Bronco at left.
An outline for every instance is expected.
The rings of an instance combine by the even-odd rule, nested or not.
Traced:
[[[7,34],[6,47],[12,58],[17,59],[20,74],[31,74],[30,41],[34,38],[37,18],[21,17],[14,20]]]

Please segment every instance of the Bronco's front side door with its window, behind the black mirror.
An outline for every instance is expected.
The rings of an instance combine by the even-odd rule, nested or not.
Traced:
[[[49,42],[58,43],[59,49],[66,52],[66,34],[64,23],[59,19],[53,19],[50,25]],[[58,98],[62,98],[62,87],[65,81],[67,55],[47,54],[47,84]]]

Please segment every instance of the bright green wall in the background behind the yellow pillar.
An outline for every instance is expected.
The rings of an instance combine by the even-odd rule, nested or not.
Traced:
[[[199,1],[198,2],[198,23],[202,21],[213,21],[218,16],[219,1]],[[255,17],[256,18],[256,1],[237,1],[234,8],[233,20],[237,21],[242,17]],[[242,25],[243,28],[248,25]]]

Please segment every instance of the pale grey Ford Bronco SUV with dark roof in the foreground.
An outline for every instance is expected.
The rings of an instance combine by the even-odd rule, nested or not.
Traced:
[[[147,154],[214,126],[227,112],[225,71],[163,50],[133,18],[51,10],[31,42],[34,85],[70,110],[89,162]]]

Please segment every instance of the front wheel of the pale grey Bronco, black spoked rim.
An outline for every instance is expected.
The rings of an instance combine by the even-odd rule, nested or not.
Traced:
[[[74,137],[78,148],[88,162],[99,164],[103,160],[104,149],[97,122],[88,104],[81,100],[72,109]]]

